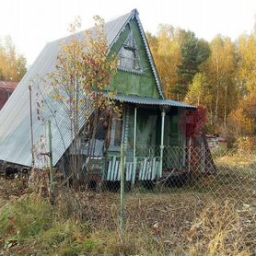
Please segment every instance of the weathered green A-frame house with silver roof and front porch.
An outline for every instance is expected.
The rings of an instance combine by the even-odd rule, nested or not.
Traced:
[[[121,142],[127,147],[126,180],[155,180],[162,177],[164,169],[186,169],[187,140],[179,123],[184,111],[195,108],[166,99],[137,10],[107,22],[104,33],[110,53],[116,52],[119,57],[118,74],[111,83],[111,90],[116,93],[115,100],[122,102],[123,112],[122,119],[111,122],[108,148],[104,147],[104,139],[101,144],[99,139],[98,146],[102,145],[102,150],[99,149],[101,153],[98,151],[95,157],[105,159],[104,168],[100,170],[102,179],[120,179]],[[30,110],[34,142],[45,135],[45,127],[38,122],[37,102],[33,97],[29,107],[29,81],[34,76],[52,72],[59,45],[66,40],[68,38],[46,44],[0,111],[0,161],[31,167]],[[72,144],[64,125],[66,117],[56,112],[52,118],[53,166],[60,163]],[[51,113],[47,114],[51,118]],[[181,148],[181,151],[169,152],[167,148]]]

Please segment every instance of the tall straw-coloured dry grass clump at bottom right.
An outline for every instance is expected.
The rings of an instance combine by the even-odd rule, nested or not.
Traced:
[[[187,233],[189,254],[250,255],[253,240],[247,246],[244,227],[235,204],[208,204]]]

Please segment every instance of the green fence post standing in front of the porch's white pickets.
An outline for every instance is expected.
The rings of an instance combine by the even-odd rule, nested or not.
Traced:
[[[124,198],[124,173],[125,163],[124,163],[124,146],[121,145],[121,184],[120,184],[120,208],[121,208],[121,219],[120,219],[120,229],[121,229],[121,243],[124,241],[124,231],[125,231],[125,198]]]

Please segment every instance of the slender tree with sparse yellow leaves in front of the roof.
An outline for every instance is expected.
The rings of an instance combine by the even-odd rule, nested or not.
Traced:
[[[67,117],[66,125],[73,142],[67,157],[70,177],[75,184],[82,177],[84,163],[93,155],[95,134],[102,115],[119,111],[112,94],[109,97],[104,94],[117,72],[117,58],[110,55],[104,20],[100,17],[94,17],[94,20],[94,29],[85,32],[77,33],[81,28],[80,19],[70,25],[71,36],[60,45],[54,70],[42,77],[46,88],[42,92],[44,100],[50,97],[56,101]],[[85,120],[83,127],[82,120]],[[89,145],[87,159],[79,157],[83,155],[85,142]]]

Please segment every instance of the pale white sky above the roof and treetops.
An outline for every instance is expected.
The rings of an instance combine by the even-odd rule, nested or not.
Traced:
[[[166,23],[207,41],[217,34],[236,40],[252,31],[256,17],[256,0],[0,0],[0,39],[11,36],[30,65],[48,41],[68,35],[77,16],[87,29],[95,15],[108,21],[134,8],[145,31],[157,33]]]

